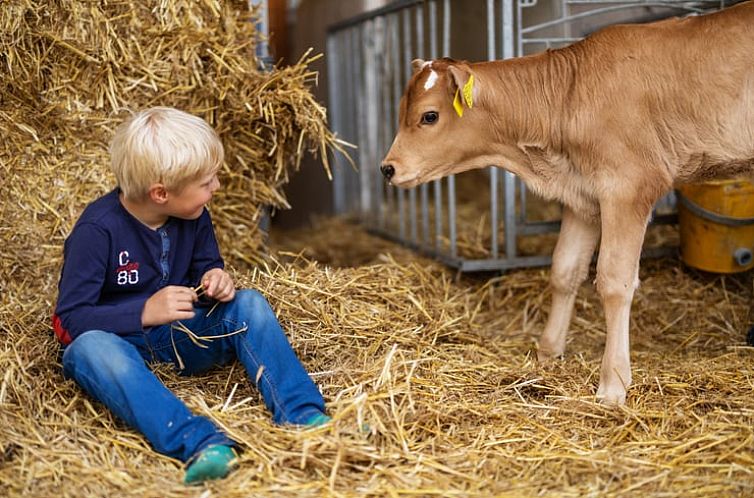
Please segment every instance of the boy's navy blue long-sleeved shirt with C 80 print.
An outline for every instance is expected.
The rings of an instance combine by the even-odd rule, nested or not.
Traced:
[[[64,344],[88,330],[140,332],[152,294],[168,285],[195,287],[224,266],[206,209],[196,220],[169,218],[153,230],[126,211],[119,194],[89,204],[65,241],[53,315]]]

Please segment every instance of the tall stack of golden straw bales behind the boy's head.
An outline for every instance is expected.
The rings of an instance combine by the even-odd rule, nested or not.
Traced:
[[[220,243],[231,261],[258,261],[263,206],[286,207],[281,187],[302,154],[319,153],[327,167],[337,144],[308,91],[313,58],[260,71],[256,40],[246,0],[4,3],[0,195],[4,219],[27,232],[15,263],[37,275],[49,268],[30,261],[57,266],[76,214],[113,187],[114,127],[153,105],[217,129],[227,157],[213,207]]]

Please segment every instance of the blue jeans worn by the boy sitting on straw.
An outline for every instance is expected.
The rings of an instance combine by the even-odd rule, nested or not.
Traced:
[[[193,319],[181,323],[201,337],[248,328],[201,341],[207,349],[179,330],[172,330],[171,340],[170,325],[130,335],[91,330],[65,348],[64,375],[144,434],[155,450],[184,462],[209,445],[235,443],[209,419],[192,414],[145,363],[172,362],[178,367],[175,350],[185,365],[181,375],[206,372],[238,358],[275,423],[304,424],[324,413],[319,389],[296,357],[264,296],[239,290],[233,301],[220,303],[207,316],[209,311],[197,308]]]

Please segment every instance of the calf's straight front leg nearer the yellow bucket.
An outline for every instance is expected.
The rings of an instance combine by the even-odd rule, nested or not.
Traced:
[[[631,385],[629,319],[634,291],[639,286],[639,257],[649,219],[649,212],[641,212],[640,204],[613,200],[600,205],[597,291],[605,311],[607,339],[597,398],[606,404],[624,404]]]

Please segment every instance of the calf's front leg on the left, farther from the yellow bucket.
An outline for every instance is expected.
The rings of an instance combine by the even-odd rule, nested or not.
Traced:
[[[587,222],[570,208],[563,207],[560,235],[550,269],[552,304],[547,325],[539,338],[539,361],[558,357],[565,352],[576,293],[589,274],[589,263],[599,234],[600,227],[597,223]]]

